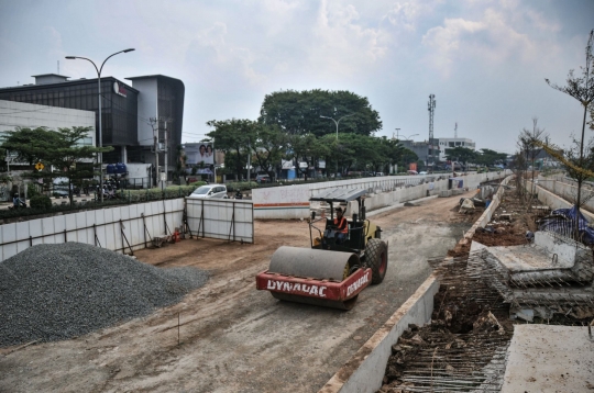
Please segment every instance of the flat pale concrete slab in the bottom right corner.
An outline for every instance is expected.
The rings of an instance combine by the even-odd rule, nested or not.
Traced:
[[[502,393],[593,390],[594,341],[586,327],[515,326]]]

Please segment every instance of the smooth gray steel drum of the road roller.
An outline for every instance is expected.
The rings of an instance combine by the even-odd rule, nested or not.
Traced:
[[[283,246],[273,254],[268,272],[340,282],[354,266],[361,266],[356,254]]]

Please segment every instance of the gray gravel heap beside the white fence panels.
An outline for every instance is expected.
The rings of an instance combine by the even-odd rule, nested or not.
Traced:
[[[84,335],[202,287],[208,272],[160,269],[81,243],[37,245],[0,262],[0,347]]]

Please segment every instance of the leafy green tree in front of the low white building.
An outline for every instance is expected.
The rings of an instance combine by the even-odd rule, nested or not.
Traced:
[[[3,137],[2,148],[16,155],[15,160],[33,165],[43,162],[46,168],[54,166],[57,171],[33,171],[28,177],[48,179],[64,177],[68,179],[68,196],[73,203],[73,182],[92,178],[95,175],[92,160],[98,153],[113,150],[113,147],[95,147],[81,145],[92,127],[72,127],[51,131],[46,127],[18,127],[9,131]]]

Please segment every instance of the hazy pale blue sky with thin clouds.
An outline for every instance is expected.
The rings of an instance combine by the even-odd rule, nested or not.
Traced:
[[[376,136],[415,141],[429,137],[435,94],[436,137],[458,124],[477,149],[512,154],[534,117],[559,146],[581,133],[581,104],[544,79],[564,85],[585,65],[592,29],[593,0],[0,0],[0,87],[58,61],[61,75],[96,78],[64,57],[133,47],[102,76],[180,79],[184,143],[210,120],[256,120],[265,94],[323,89],[366,97]]]

